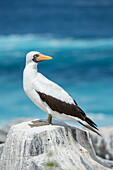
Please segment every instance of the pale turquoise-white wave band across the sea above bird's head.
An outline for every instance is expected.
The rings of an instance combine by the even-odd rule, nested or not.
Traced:
[[[66,48],[66,49],[113,49],[113,38],[72,39],[54,38],[49,35],[9,35],[0,36],[0,51],[23,48]]]

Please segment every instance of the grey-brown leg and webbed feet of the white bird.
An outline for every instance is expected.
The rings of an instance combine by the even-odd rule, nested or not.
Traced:
[[[43,122],[43,121],[32,121],[32,124],[29,124],[30,127],[38,127],[38,126],[45,126],[45,125],[50,125],[52,124],[52,116],[49,115],[48,118],[47,118],[47,121],[46,122]]]

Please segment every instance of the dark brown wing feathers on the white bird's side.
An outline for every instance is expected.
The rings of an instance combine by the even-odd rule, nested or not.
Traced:
[[[97,125],[86,116],[85,112],[80,107],[78,107],[75,101],[74,101],[75,104],[70,104],[70,103],[61,101],[59,99],[56,99],[55,97],[52,97],[50,95],[47,95],[47,94],[44,94],[38,91],[36,92],[39,94],[42,101],[46,102],[46,104],[53,111],[57,111],[60,114],[65,113],[66,115],[80,118],[81,120],[86,121],[91,127],[97,129],[96,127]]]

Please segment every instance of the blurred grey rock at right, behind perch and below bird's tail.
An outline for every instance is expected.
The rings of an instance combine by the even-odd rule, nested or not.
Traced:
[[[100,128],[103,138],[91,133],[92,143],[98,156],[113,160],[113,126]]]

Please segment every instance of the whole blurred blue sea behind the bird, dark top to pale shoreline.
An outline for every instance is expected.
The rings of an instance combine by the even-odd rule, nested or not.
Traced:
[[[99,126],[113,125],[113,1],[0,1],[0,125],[47,118],[23,90],[25,56],[53,57],[39,71]]]

